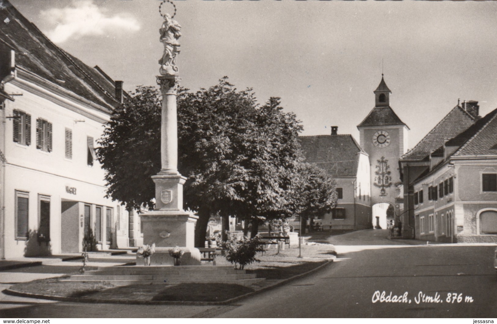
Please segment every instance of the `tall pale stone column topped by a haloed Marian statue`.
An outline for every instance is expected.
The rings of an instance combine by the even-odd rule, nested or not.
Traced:
[[[161,7],[165,2],[161,3]],[[160,29],[160,40],[164,44],[164,54],[159,60],[161,68],[157,77],[162,93],[161,171],[152,176],[156,185],[156,208],[140,215],[143,243],[156,244],[156,253],[151,257],[152,265],[172,265],[173,258],[168,250],[174,246],[185,251],[181,264],[193,265],[200,264],[200,252],[194,247],[198,217],[183,210],[183,184],[186,178],[178,172],[176,91],[180,79],[176,57],[180,51],[178,40],[181,26],[172,19],[174,14],[172,17],[167,13],[162,16],[164,23]]]

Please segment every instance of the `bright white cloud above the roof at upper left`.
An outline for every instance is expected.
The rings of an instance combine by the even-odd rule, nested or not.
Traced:
[[[120,14],[110,16],[106,11],[106,8],[97,6],[92,0],[78,0],[62,9],[42,10],[40,15],[50,25],[57,25],[47,32],[47,36],[59,44],[83,36],[140,30],[140,24],[134,17]]]

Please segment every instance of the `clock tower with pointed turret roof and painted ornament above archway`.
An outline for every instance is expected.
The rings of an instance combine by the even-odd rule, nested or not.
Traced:
[[[398,213],[402,209],[395,198],[400,184],[399,159],[407,152],[409,127],[390,107],[390,94],[385,80],[374,90],[375,107],[357,125],[359,142],[369,155],[371,164],[371,205],[391,203]]]

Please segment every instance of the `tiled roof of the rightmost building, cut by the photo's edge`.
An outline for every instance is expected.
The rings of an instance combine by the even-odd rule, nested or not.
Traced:
[[[452,141],[453,144],[461,142],[464,144],[452,155],[453,157],[496,156],[497,109],[476,121],[473,126],[456,136]]]

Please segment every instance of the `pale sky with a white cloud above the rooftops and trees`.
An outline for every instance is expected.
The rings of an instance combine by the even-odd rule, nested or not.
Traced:
[[[1,2],[1,0],[0,0]],[[132,91],[154,85],[161,0],[10,0],[57,45]],[[175,0],[181,84],[224,76],[259,103],[282,99],[302,135],[359,139],[381,81],[409,148],[458,102],[497,108],[496,1]],[[169,3],[163,6],[172,13]]]

